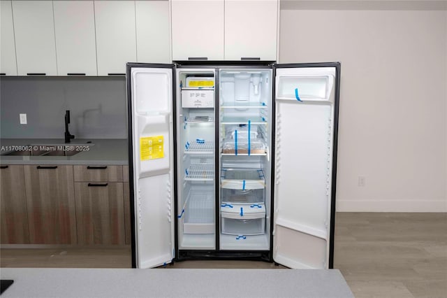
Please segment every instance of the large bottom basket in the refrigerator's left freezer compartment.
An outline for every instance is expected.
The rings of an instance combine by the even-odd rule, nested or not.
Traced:
[[[214,234],[214,187],[191,186],[184,208],[183,232]]]

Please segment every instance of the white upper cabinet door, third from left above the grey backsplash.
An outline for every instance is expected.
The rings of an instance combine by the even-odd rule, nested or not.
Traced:
[[[93,0],[53,1],[59,76],[96,76]]]

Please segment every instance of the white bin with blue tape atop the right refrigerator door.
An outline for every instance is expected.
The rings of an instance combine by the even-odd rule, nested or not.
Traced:
[[[328,100],[333,76],[278,76],[277,99]]]

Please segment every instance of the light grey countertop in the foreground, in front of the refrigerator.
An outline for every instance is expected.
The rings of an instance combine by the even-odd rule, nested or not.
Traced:
[[[337,269],[2,268],[1,297],[353,297]]]

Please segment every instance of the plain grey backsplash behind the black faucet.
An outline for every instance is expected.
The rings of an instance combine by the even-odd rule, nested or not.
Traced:
[[[126,139],[126,79],[0,78],[0,138],[64,139],[66,110],[76,138]],[[27,125],[20,125],[20,113],[27,114]]]

